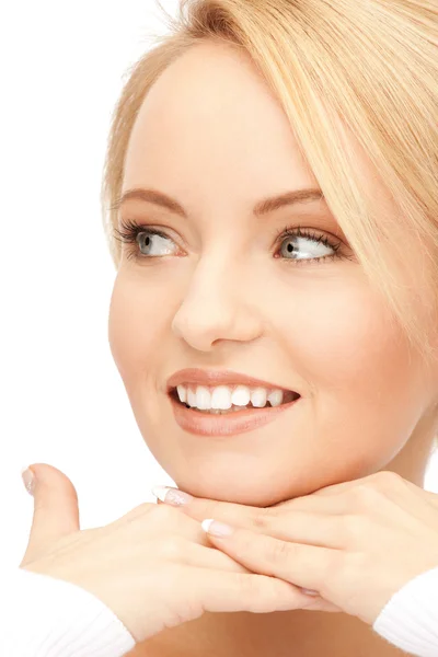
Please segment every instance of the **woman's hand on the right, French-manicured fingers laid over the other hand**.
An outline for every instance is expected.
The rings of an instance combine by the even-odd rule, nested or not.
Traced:
[[[234,529],[208,534],[215,548],[254,573],[318,591],[370,625],[407,581],[438,566],[438,495],[393,472],[268,508],[187,499],[177,505],[184,514]]]

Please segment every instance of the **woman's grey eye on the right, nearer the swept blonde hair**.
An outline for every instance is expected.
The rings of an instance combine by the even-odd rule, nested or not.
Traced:
[[[342,257],[337,253],[342,242],[332,241],[326,235],[311,229],[288,227],[280,232],[277,240],[280,242],[280,247],[276,257],[299,264],[303,264],[306,261],[314,263]]]

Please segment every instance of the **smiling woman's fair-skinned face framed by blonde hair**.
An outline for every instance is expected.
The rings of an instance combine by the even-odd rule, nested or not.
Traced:
[[[358,163],[367,172],[360,153]],[[383,210],[388,197],[370,184]],[[127,151],[123,193],[136,187],[171,196],[186,216],[135,198],[120,206],[125,226],[161,234],[123,244],[110,343],[140,431],[175,484],[270,506],[394,463],[414,477],[401,457],[430,434],[419,423],[436,401],[433,382],[324,199],[253,212],[319,185],[244,55],[204,44],[160,77]],[[231,370],[301,396],[280,412],[246,412],[265,420],[246,430],[230,428],[237,416],[200,411],[181,423],[168,384],[185,368]],[[200,416],[231,433],[199,435]]]

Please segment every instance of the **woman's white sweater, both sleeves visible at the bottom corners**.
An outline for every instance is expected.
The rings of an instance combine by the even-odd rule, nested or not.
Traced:
[[[84,589],[23,568],[0,576],[1,657],[122,657],[130,633]],[[438,655],[438,567],[397,591],[372,629],[418,657]]]

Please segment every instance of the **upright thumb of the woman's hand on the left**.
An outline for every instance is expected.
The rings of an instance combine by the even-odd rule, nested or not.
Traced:
[[[62,537],[80,530],[78,494],[68,476],[47,463],[35,463],[28,470],[35,477],[34,517],[21,565],[44,554]]]

